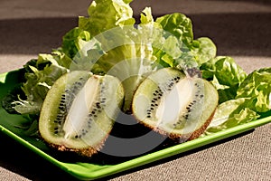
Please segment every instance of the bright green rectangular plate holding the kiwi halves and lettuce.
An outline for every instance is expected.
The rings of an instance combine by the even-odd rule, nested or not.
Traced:
[[[19,79],[19,70],[0,74],[0,100],[3,99],[9,90],[12,90],[14,86],[19,83]],[[113,175],[133,167],[139,167],[165,157],[171,157],[194,148],[200,148],[204,145],[216,142],[223,138],[229,138],[250,129],[255,129],[271,122],[271,116],[267,116],[268,117],[264,119],[257,119],[231,129],[222,130],[209,136],[196,138],[181,144],[168,144],[163,147],[154,148],[145,154],[134,157],[117,157],[98,153],[88,160],[81,158],[71,158],[68,160],[67,158],[60,157],[61,154],[56,154],[51,148],[48,148],[41,139],[25,135],[25,131],[19,129],[23,122],[25,122],[25,119],[20,115],[8,114],[2,106],[0,106],[0,130],[23,144],[26,148],[31,149],[34,153],[47,159],[55,166],[60,167],[71,176],[75,176],[79,179],[91,180]],[[140,147],[140,145],[138,145],[138,147]]]

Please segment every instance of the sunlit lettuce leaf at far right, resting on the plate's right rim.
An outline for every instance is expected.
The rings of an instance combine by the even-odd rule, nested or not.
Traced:
[[[234,100],[218,106],[203,135],[271,116],[271,67],[253,71],[240,83]]]

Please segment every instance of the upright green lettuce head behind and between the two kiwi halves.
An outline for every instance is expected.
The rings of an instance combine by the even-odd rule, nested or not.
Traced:
[[[63,36],[60,48],[26,65],[22,90],[27,100],[16,101],[16,108],[23,108],[19,109],[21,113],[38,114],[51,88],[49,81],[68,71],[87,70],[121,80],[126,90],[123,110],[129,112],[135,89],[152,71],[199,68],[215,56],[216,47],[209,38],[193,39],[192,21],[184,14],[165,14],[154,20],[151,8],[146,7],[140,23],[135,24],[130,2],[92,1],[89,16],[79,16],[78,26]],[[41,68],[41,64],[46,66]]]

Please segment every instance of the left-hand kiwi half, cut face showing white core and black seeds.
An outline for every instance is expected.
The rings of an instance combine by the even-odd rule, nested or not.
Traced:
[[[70,71],[55,81],[42,104],[42,138],[62,151],[90,157],[103,146],[124,98],[117,78]]]

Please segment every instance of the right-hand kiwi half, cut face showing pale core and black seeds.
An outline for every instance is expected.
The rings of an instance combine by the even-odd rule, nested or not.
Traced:
[[[199,74],[174,68],[150,74],[135,91],[135,118],[179,141],[198,138],[210,124],[219,100],[217,90]]]

